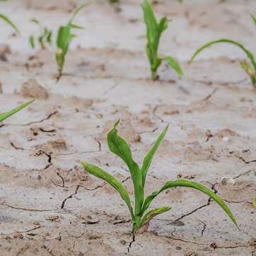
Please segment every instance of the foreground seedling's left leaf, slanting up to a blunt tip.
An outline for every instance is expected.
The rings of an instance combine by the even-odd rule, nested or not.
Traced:
[[[85,163],[85,162],[82,162],[82,165],[83,165],[83,168],[85,168],[85,170],[88,173],[91,173],[92,175],[94,175],[102,180],[105,180],[112,187],[114,187],[115,190],[120,192],[120,195],[121,195],[122,199],[126,202],[128,208],[129,208],[130,214],[132,216],[132,219],[134,220],[134,214],[132,211],[131,200],[130,200],[129,194],[128,194],[127,190],[125,190],[124,186],[118,180],[116,180],[112,175],[105,172],[105,170],[102,170],[95,165],[91,165],[91,164]]]

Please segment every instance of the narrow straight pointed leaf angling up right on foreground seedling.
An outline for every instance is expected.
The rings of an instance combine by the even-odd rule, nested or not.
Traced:
[[[161,141],[163,140],[163,138],[165,137],[165,134],[168,130],[169,124],[168,126],[165,128],[165,130],[163,131],[163,133],[159,136],[159,138],[157,139],[156,143],[153,145],[153,148],[149,151],[149,153],[146,155],[146,157],[144,158],[143,161],[143,165],[141,168],[141,175],[142,175],[142,185],[144,187],[145,185],[145,181],[146,181],[146,174],[148,173],[149,167],[151,165],[151,162],[153,160],[153,156],[155,156],[155,153],[158,149],[158,146],[161,144]]]

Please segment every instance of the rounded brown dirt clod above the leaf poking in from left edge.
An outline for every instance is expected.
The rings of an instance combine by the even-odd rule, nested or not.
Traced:
[[[27,82],[22,84],[21,91],[18,93],[24,98],[36,98],[46,100],[48,93],[45,88],[42,88],[35,79],[29,79]]]

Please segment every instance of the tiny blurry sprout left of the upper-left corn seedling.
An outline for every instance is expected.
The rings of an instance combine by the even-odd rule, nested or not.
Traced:
[[[45,50],[48,46],[52,45],[52,30],[48,30],[46,27],[43,28],[40,22],[35,20],[35,18],[33,18],[32,22],[37,24],[40,28],[41,35],[37,38],[37,40],[42,50]],[[35,37],[33,35],[29,37],[29,42],[31,47],[35,48]]]

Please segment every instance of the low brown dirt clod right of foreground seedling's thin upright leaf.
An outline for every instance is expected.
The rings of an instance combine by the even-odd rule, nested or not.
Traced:
[[[184,158],[186,161],[215,161],[218,162],[214,156],[215,149],[202,149],[199,141],[194,141],[193,148],[188,147],[185,151]]]

